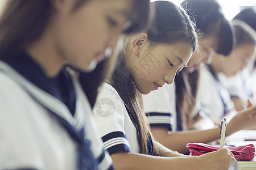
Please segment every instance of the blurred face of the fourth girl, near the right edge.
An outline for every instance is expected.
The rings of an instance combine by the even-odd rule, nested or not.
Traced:
[[[254,44],[245,44],[237,46],[232,50],[229,56],[224,58],[222,72],[226,76],[233,76],[247,66],[247,63],[253,57],[255,52]]]

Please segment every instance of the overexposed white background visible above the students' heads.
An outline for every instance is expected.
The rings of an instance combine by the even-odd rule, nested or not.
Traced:
[[[157,1],[157,0],[151,0]],[[169,0],[171,2],[180,5],[183,0]],[[204,1],[204,0],[201,0]],[[227,19],[232,19],[238,12],[244,8],[252,7],[256,10],[256,0],[217,0],[222,6],[222,11],[224,12]]]

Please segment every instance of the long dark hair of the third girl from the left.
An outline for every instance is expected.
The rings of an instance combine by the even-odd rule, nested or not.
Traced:
[[[185,0],[181,6],[187,9],[196,27],[207,37],[214,35],[218,39],[217,53],[228,56],[234,46],[234,29],[222,13],[220,4],[215,0]],[[190,129],[193,123],[192,110],[196,104],[199,71],[188,73],[186,69],[175,77],[177,112],[180,112],[184,129]]]

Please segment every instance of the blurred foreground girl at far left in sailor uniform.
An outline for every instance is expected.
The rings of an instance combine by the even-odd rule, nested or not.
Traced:
[[[125,0],[7,2],[0,169],[113,169],[72,69],[92,70],[122,30],[143,27],[138,20],[147,20],[148,8],[148,1]]]

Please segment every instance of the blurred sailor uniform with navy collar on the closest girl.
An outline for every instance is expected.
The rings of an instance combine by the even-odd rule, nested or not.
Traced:
[[[22,50],[0,60],[0,169],[112,169],[80,84]]]

